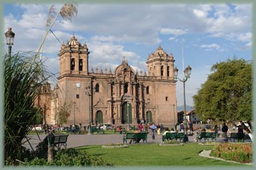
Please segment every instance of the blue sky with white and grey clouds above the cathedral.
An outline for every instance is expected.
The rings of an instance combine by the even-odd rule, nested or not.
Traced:
[[[44,35],[47,14],[53,4],[4,4],[4,29],[15,32],[14,52],[37,50]],[[62,4],[56,5],[56,11]],[[135,70],[146,70],[147,56],[159,45],[174,55],[182,78],[184,67],[192,67],[186,82],[187,105],[207,80],[210,67],[233,59],[252,60],[252,6],[250,4],[77,4],[72,22],[58,17],[52,27],[66,44],[74,33],[87,43],[89,70],[121,64],[122,57]],[[59,72],[61,44],[49,34],[42,56],[52,73]],[[7,49],[6,49],[7,51]],[[177,82],[177,102],[183,105],[183,87]]]

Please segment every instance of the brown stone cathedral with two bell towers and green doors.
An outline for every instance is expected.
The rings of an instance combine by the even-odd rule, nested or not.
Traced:
[[[115,70],[88,68],[89,49],[73,35],[59,50],[58,83],[42,86],[37,105],[44,123],[59,124],[59,110],[69,108],[67,125],[174,125],[177,113],[174,57],[161,46],[147,58],[147,72],[135,72],[124,58]],[[177,114],[176,114],[177,115]]]

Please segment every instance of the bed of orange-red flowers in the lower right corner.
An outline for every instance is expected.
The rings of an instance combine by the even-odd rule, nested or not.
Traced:
[[[210,156],[239,163],[252,162],[252,144],[222,143],[212,149]]]

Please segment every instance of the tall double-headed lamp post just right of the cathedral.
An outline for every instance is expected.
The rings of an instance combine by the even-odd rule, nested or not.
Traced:
[[[185,75],[185,77],[183,77],[183,80],[181,80],[180,78],[178,78],[178,71],[179,71],[179,70],[177,69],[177,67],[175,67],[175,68],[174,68],[174,78],[175,78],[175,80],[179,79],[180,82],[183,83],[183,90],[184,90],[184,93],[183,93],[183,95],[184,95],[184,121],[183,121],[183,124],[184,124],[184,130],[185,130],[185,131],[184,131],[185,135],[184,135],[183,141],[184,141],[184,142],[187,142],[187,141],[189,141],[189,138],[187,137],[187,117],[186,117],[185,82],[186,82],[187,79],[190,77],[190,74],[191,74],[191,67],[188,66],[187,68],[185,68],[185,70],[184,70],[184,75]]]

